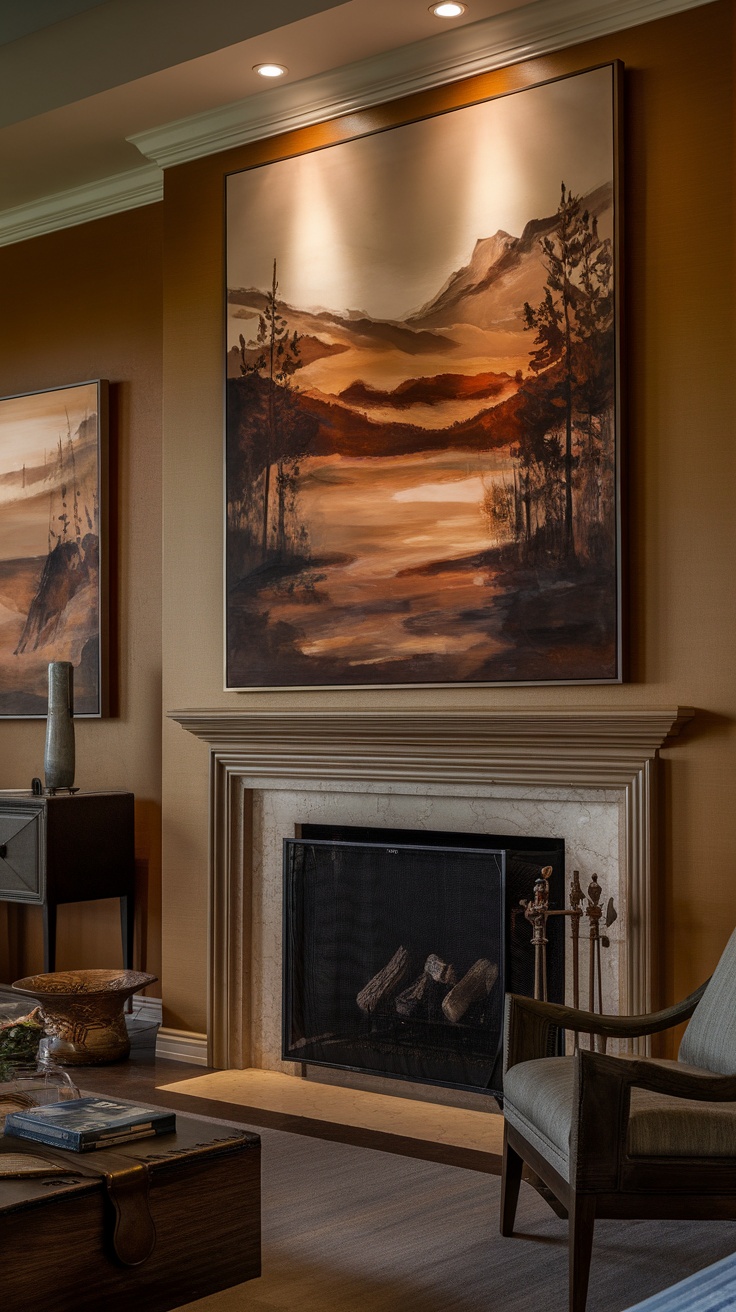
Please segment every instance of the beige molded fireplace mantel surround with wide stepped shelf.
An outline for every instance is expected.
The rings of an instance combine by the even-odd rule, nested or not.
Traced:
[[[252,790],[269,783],[615,791],[623,803],[626,998],[628,1010],[647,1010],[656,766],[691,715],[682,707],[171,711],[210,747],[210,1064],[252,1064],[249,813]]]

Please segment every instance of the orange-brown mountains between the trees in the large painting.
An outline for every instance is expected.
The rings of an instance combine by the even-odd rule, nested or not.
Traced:
[[[611,185],[590,192],[581,203],[596,216],[601,232],[610,234]],[[374,319],[362,311],[310,310],[279,302],[279,312],[299,338],[299,390],[362,413],[373,413],[382,404],[387,411],[409,411],[405,403],[411,396],[412,404],[422,408],[416,412],[422,424],[428,420],[425,407],[436,407],[433,426],[441,422],[437,395],[443,391],[445,401],[466,403],[462,411],[447,411],[446,417],[451,422],[467,420],[471,394],[479,401],[484,399],[485,377],[493,373],[513,378],[520,369],[527,370],[530,338],[523,306],[539,303],[544,294],[547,269],[541,241],[555,224],[556,215],[535,218],[518,237],[508,232],[480,237],[467,264],[400,321]],[[260,289],[228,291],[231,324],[240,321],[244,336],[243,346],[234,345],[228,352],[228,378],[241,377],[241,366],[257,359],[255,329],[266,304],[268,293]],[[420,370],[412,362],[417,357],[422,361]],[[471,378],[475,384],[468,382]],[[513,390],[509,386],[493,394],[496,401]],[[412,415],[407,419],[411,421]]]

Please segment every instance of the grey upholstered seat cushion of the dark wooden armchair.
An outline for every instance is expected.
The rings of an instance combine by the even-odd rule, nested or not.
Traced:
[[[703,1075],[682,1061],[652,1064]],[[569,1179],[573,1118],[573,1059],[520,1061],[504,1077],[504,1115],[523,1138]],[[631,1090],[626,1151],[630,1157],[736,1157],[736,1103],[698,1102]]]

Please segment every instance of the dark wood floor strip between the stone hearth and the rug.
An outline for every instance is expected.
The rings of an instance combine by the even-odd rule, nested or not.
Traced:
[[[457,1148],[451,1144],[438,1144],[424,1139],[409,1139],[404,1135],[382,1134],[375,1130],[361,1130],[329,1120],[291,1117],[278,1111],[266,1111],[264,1107],[244,1107],[220,1099],[193,1098],[189,1094],[177,1094],[159,1088],[164,1084],[174,1084],[177,1080],[202,1075],[207,1075],[207,1067],[165,1061],[156,1057],[152,1034],[147,1033],[138,1040],[134,1036],[127,1061],[109,1067],[79,1067],[73,1077],[87,1093],[140,1099],[140,1102],[153,1106],[188,1111],[194,1117],[235,1120],[255,1128],[283,1130],[293,1135],[354,1144],[359,1148],[375,1148],[380,1152],[419,1157],[424,1161],[438,1161],[449,1166],[464,1166],[468,1170],[480,1170],[491,1176],[499,1176],[501,1172],[501,1158],[496,1153],[476,1152],[471,1148]]]

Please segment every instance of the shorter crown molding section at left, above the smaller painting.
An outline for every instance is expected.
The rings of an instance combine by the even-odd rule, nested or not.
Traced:
[[[142,205],[153,205],[164,197],[164,176],[157,164],[143,164],[140,168],[113,177],[102,177],[97,182],[71,188],[43,195],[28,205],[17,205],[0,213],[0,247],[14,241],[29,241],[43,232],[56,232],[59,228],[73,228],[79,223],[91,223],[108,214],[122,210],[136,210]]]

